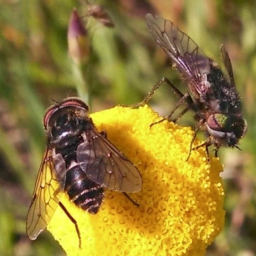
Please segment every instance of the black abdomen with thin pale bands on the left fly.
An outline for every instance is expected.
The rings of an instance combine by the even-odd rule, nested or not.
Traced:
[[[104,189],[88,179],[78,164],[67,172],[65,191],[72,202],[91,214],[99,211],[104,198]]]

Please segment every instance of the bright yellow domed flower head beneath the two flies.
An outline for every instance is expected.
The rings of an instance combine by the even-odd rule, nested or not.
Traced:
[[[67,255],[205,255],[224,223],[220,161],[209,163],[202,147],[186,161],[191,128],[164,121],[150,129],[159,116],[148,106],[116,107],[91,117],[140,170],[142,189],[129,195],[140,206],[107,191],[100,211],[92,215],[63,196],[76,223],[58,207],[47,228]]]

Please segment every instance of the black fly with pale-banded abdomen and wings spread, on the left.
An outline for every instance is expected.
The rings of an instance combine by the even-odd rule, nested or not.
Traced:
[[[104,189],[125,195],[141,190],[140,172],[97,131],[81,99],[68,97],[47,109],[44,129],[47,147],[26,223],[30,239],[45,229],[64,192],[84,211],[96,214]]]

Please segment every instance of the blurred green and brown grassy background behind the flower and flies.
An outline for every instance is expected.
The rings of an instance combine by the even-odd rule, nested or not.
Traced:
[[[36,241],[25,233],[26,213],[45,149],[44,111],[53,100],[77,95],[88,84],[92,111],[131,104],[145,97],[163,76],[186,91],[166,54],[145,24],[158,13],[188,33],[205,53],[220,62],[225,44],[243,97],[248,132],[243,151],[221,148],[226,202],[225,229],[207,255],[256,255],[255,196],[255,1],[119,0],[103,4],[115,28],[86,16],[86,1],[3,0],[0,8],[0,255],[65,255],[48,232]],[[79,70],[67,54],[67,26],[73,8],[88,24],[92,51]],[[83,95],[84,96],[84,95]],[[177,102],[168,86],[150,105],[166,115]],[[195,125],[191,113],[179,124]],[[202,137],[203,138],[203,137]]]

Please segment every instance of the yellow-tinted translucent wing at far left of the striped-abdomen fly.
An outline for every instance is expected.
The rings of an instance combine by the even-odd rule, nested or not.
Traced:
[[[35,240],[51,220],[58,204],[65,181],[56,172],[52,162],[52,150],[47,149],[36,178],[33,198],[28,210],[26,230]]]

